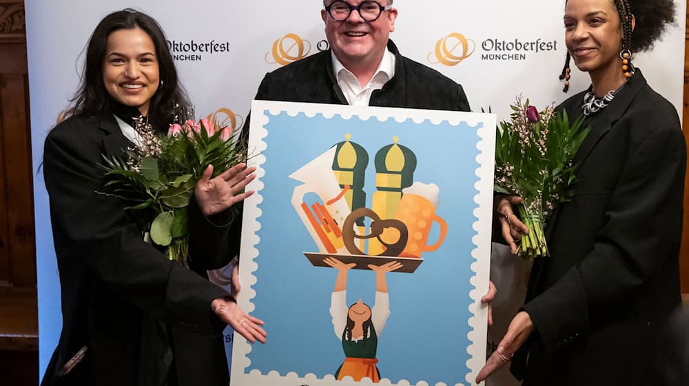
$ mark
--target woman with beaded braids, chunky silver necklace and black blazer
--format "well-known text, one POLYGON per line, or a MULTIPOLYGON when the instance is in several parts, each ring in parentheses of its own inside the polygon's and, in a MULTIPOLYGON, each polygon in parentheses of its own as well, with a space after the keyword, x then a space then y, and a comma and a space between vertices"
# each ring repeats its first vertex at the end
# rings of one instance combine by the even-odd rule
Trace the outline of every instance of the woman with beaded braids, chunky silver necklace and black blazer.
MULTIPOLYGON (((591 130, 574 199, 546 227, 550 256, 534 261, 525 305, 477 382, 512 362, 527 386, 657 384, 654 341, 681 305, 686 145, 677 110, 633 57, 674 18, 672 0, 566 1, 561 79, 567 91, 573 59, 591 85, 557 110, 591 130)), ((500 202, 502 219, 514 201, 500 202)), ((524 228, 511 216, 503 236, 524 228)))

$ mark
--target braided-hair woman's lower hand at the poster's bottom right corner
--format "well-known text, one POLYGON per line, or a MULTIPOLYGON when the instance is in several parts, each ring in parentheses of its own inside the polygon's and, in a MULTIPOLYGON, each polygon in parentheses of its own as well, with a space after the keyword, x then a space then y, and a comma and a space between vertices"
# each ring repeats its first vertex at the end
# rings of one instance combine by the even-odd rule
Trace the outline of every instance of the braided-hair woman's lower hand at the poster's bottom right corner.
POLYGON ((533 332, 531 316, 528 316, 526 311, 515 315, 510 323, 510 327, 507 328, 505 337, 497 345, 497 350, 486 360, 486 365, 478 372, 476 383, 483 382, 496 372, 497 369, 509 363, 517 349, 522 347, 526 338, 531 335, 531 332, 533 332))

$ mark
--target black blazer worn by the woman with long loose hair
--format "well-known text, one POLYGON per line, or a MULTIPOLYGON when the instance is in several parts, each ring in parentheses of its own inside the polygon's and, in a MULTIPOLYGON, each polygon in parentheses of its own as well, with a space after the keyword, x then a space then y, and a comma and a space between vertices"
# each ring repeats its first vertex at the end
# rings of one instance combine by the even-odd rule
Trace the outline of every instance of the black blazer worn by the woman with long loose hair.
MULTIPOLYGON (((131 146, 112 114, 73 116, 45 140, 63 328, 43 385, 160 385, 172 366, 178 385, 227 386, 225 325, 210 304, 229 294, 205 270, 236 252, 230 226, 214 225, 192 199, 192 270, 145 243, 125 204, 96 194, 104 190, 101 154, 124 156, 131 146), (81 363, 61 376, 83 346, 81 363)), ((234 214, 223 213, 223 224, 234 214)))

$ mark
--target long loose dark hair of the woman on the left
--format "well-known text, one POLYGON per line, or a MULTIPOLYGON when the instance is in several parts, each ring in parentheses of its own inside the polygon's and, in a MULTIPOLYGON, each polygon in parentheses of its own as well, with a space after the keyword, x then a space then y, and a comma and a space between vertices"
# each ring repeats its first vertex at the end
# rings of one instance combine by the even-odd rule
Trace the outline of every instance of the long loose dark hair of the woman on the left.
POLYGON ((156 48, 161 85, 151 99, 149 121, 153 125, 167 125, 186 119, 191 108, 187 94, 179 83, 172 54, 167 46, 165 33, 158 22, 143 12, 132 8, 112 12, 101 20, 91 34, 81 72, 79 89, 70 99, 70 108, 64 118, 72 115, 97 116, 112 111, 114 99, 103 84, 103 61, 105 60, 107 37, 117 30, 141 28, 153 41, 156 48))

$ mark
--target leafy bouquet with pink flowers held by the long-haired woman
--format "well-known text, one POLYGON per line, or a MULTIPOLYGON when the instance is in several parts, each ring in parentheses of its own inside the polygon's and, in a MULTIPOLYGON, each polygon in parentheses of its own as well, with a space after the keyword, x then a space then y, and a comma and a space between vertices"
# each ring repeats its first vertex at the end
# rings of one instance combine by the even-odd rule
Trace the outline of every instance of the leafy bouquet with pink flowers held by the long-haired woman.
POLYGON ((127 159, 105 157, 106 187, 103 193, 125 200, 127 209, 153 219, 145 238, 165 247, 170 260, 186 266, 188 250, 187 207, 196 183, 208 165, 217 176, 245 161, 246 152, 231 127, 218 127, 208 119, 170 125, 167 135, 135 120, 141 137, 127 159))

